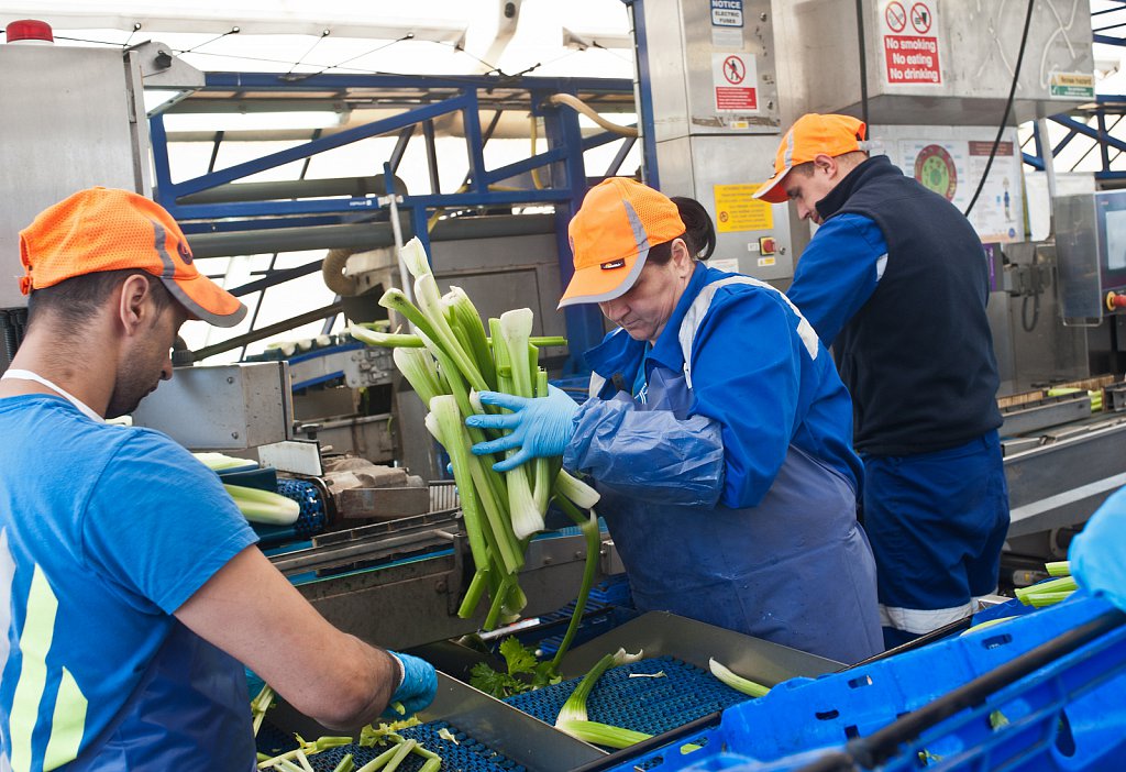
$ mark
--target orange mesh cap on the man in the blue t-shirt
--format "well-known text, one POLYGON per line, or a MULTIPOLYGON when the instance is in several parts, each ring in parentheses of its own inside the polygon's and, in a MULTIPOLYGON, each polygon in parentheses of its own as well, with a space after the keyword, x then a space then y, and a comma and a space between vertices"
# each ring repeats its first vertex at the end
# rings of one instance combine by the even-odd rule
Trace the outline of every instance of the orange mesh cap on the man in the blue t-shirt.
POLYGON ((128 190, 89 188, 44 209, 19 232, 19 259, 25 295, 84 273, 134 268, 160 279, 205 322, 232 327, 247 315, 239 298, 195 267, 172 216, 128 190))

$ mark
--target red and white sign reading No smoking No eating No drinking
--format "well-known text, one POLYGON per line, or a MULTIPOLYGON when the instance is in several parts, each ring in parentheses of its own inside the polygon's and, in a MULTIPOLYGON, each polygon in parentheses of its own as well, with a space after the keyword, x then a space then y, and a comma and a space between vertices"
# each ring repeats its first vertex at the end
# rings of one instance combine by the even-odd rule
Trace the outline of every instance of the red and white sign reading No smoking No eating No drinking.
POLYGON ((888 84, 938 86, 938 0, 887 0, 881 15, 888 84))

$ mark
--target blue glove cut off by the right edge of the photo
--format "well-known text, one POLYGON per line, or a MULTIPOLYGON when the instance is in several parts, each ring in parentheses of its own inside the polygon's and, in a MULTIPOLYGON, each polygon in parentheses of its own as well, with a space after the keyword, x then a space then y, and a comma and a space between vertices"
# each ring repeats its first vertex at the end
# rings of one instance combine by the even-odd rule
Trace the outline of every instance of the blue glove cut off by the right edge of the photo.
POLYGON ((1067 557, 1079 586, 1126 610, 1126 488, 1102 502, 1067 557))

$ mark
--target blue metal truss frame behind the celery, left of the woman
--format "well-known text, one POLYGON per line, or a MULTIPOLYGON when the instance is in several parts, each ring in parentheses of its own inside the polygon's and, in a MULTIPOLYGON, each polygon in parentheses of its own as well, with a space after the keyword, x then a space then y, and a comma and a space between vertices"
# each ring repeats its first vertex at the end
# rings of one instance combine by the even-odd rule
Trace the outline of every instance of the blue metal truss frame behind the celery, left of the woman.
MULTIPOLYGON (((578 209, 582 197, 591 181, 613 176, 635 144, 635 140, 623 137, 609 132, 600 132, 582 136, 578 115, 570 108, 557 107, 546 101, 554 93, 569 93, 584 99, 605 99, 607 104, 634 104, 634 84, 619 79, 597 78, 522 78, 522 77, 405 77, 405 75, 341 75, 314 74, 293 79, 275 73, 223 73, 213 72, 206 75, 206 86, 194 95, 194 98, 214 98, 213 93, 244 95, 238 98, 249 100, 251 97, 263 99, 263 105, 283 97, 304 98, 310 104, 314 100, 327 100, 340 104, 349 99, 376 102, 379 107, 390 105, 401 108, 392 117, 375 120, 360 126, 343 129, 329 136, 319 136, 303 144, 288 147, 262 158, 247 161, 218 171, 191 179, 173 181, 169 160, 169 136, 164 127, 163 115, 157 114, 150 118, 153 144, 153 164, 157 180, 157 200, 167 208, 181 224, 185 232, 213 233, 238 232, 267 228, 297 228, 315 225, 341 225, 359 222, 370 222, 386 217, 386 205, 390 196, 395 196, 394 173, 399 168, 409 142, 421 134, 427 147, 428 170, 432 191, 425 195, 400 195, 395 198, 409 225, 404 228, 404 237, 418 236, 427 251, 430 252, 428 218, 437 210, 474 209, 489 207, 506 207, 512 205, 551 205, 556 217, 556 234, 558 241, 560 271, 566 282, 572 273, 570 248, 566 239, 566 224, 578 209), (373 97, 374 95, 374 97, 373 97), (482 128, 480 115, 490 109, 497 110, 491 125, 482 128), (548 149, 545 152, 509 163, 500 168, 489 169, 484 160, 485 143, 492 136, 501 114, 506 110, 530 110, 542 117, 545 123, 548 149), (450 114, 459 114, 464 125, 465 152, 468 161, 463 190, 441 192, 438 190, 437 158, 435 152, 434 120, 450 114), (421 129, 421 131, 420 131, 421 129), (236 182, 259 172, 276 169, 295 161, 307 161, 323 153, 350 143, 369 137, 386 136, 397 133, 399 140, 390 158, 377 165, 384 171, 384 185, 387 196, 366 194, 361 196, 328 196, 310 199, 292 200, 230 200, 225 203, 193 203, 193 196, 213 191, 224 185, 236 182), (583 161, 583 153, 614 142, 622 145, 615 159, 601 174, 592 179, 583 161), (530 189, 490 189, 512 178, 534 170, 549 170, 549 182, 542 188, 530 189)), ((175 110, 184 109, 186 102, 180 102, 175 110)), ((650 122, 651 125, 651 122, 650 122)), ((645 133, 646 136, 651 132, 645 133)), ((223 142, 221 132, 214 137, 215 150, 223 142)), ((653 169, 649 156, 649 143, 643 144, 644 165, 653 169)), ((215 153, 213 153, 213 163, 215 153)), ((655 173, 653 171, 652 173, 655 173)), ((653 179, 651 173, 651 179, 653 179)), ((372 176, 377 172, 373 170, 372 176)), ((244 198, 243 196, 239 197, 244 198)), ((254 281, 235 287, 232 291, 239 296, 250 295, 261 290, 262 295, 270 287, 297 278, 315 270, 314 264, 300 269, 276 270, 271 267, 261 272, 254 281)), ((259 296, 257 303, 261 303, 259 296)), ((602 321, 597 308, 568 308, 566 330, 570 341, 571 359, 564 368, 565 374, 586 371, 581 353, 597 344, 602 336, 602 321)), ((300 316, 295 317, 298 318, 300 316)), ((325 331, 330 331, 333 316, 325 317, 325 331)), ((306 320, 307 321, 307 320, 306 320)), ((278 325, 271 325, 277 329, 278 325)), ((215 348, 215 347, 211 347, 215 348)))

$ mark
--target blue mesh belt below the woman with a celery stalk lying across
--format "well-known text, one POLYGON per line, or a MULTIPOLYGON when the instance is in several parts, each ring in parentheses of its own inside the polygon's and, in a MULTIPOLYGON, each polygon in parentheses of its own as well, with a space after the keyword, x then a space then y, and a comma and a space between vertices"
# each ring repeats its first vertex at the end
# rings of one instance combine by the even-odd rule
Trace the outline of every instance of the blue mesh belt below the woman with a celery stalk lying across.
MULTIPOLYGON (((555 724, 566 698, 582 679, 510 697, 513 708, 555 724)), ((748 698, 695 665, 673 657, 642 659, 611 667, 587 698, 587 718, 610 726, 660 735, 748 698), (629 677, 632 673, 659 673, 662 677, 629 677)))

